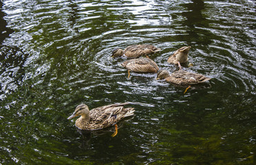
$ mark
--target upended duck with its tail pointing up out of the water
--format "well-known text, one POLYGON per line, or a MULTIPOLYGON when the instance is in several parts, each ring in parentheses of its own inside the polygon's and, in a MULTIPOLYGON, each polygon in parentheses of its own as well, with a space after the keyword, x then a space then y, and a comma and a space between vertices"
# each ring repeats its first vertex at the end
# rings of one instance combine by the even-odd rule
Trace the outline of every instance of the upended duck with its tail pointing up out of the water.
POLYGON ((188 61, 189 50, 191 46, 181 47, 176 50, 173 55, 169 56, 167 62, 172 64, 178 64, 180 69, 182 69, 180 63, 186 63, 188 61))

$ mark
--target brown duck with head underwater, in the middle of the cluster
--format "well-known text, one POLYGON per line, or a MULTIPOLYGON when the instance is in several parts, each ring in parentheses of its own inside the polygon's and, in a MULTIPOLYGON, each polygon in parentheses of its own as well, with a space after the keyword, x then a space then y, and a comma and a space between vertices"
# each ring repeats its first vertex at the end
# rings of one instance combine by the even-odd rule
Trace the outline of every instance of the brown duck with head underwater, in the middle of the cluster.
POLYGON ((128 70, 128 78, 130 76, 130 71, 157 73, 159 70, 158 65, 149 58, 135 58, 125 61, 121 65, 128 70))

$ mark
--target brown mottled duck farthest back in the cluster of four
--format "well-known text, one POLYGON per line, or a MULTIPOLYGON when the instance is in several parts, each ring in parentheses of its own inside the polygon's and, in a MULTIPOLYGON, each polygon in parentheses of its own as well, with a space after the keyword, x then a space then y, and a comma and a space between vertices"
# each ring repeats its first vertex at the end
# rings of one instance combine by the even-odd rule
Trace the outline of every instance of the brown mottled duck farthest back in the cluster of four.
POLYGON ((127 58, 138 58, 140 56, 147 56, 148 54, 159 52, 161 49, 153 45, 130 45, 125 50, 115 48, 112 51, 112 57, 126 56, 127 58))

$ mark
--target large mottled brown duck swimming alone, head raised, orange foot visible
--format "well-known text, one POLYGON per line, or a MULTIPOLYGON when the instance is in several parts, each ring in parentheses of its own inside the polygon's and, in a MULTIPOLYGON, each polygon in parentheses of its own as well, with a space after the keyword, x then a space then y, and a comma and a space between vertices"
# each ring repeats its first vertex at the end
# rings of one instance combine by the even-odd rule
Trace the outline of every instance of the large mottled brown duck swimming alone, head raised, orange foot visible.
POLYGON ((74 113, 67 119, 70 120, 81 115, 81 117, 76 120, 76 126, 82 130, 104 129, 107 126, 115 125, 116 131, 112 135, 112 137, 114 137, 118 129, 116 123, 122 120, 122 118, 134 115, 134 108, 124 108, 126 104, 129 103, 109 104, 92 109, 91 111, 89 111, 86 104, 79 104, 74 110, 74 113))

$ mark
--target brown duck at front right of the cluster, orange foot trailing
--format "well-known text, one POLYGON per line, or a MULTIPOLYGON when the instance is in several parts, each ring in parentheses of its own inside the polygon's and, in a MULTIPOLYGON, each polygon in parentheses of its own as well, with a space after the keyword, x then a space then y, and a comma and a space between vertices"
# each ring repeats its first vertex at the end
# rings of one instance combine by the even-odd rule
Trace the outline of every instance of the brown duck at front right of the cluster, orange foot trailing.
POLYGON ((206 77, 202 74, 195 74, 192 72, 186 72, 184 70, 178 70, 170 74, 167 70, 160 70, 157 74, 157 80, 165 79, 168 83, 173 83, 175 85, 189 85, 184 91, 186 91, 191 87, 191 85, 197 85, 200 83, 204 83, 207 80, 211 80, 211 78, 206 77))

